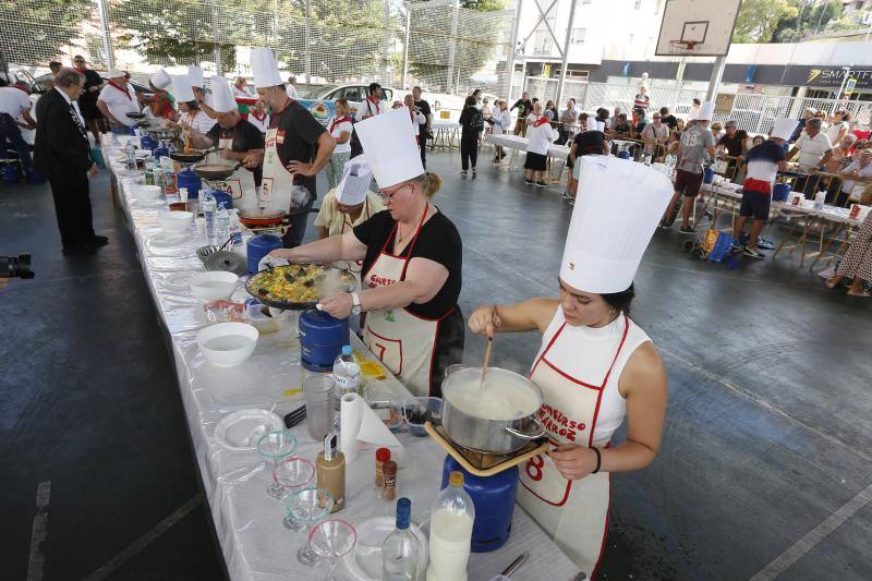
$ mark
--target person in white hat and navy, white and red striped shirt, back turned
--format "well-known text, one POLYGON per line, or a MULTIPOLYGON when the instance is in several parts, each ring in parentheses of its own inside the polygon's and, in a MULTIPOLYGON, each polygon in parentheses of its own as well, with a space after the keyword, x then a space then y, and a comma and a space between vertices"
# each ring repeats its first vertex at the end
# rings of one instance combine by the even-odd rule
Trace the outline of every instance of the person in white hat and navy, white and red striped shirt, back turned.
POLYGON ((746 158, 746 177, 742 189, 742 202, 739 207, 739 217, 732 229, 736 240, 742 239, 744 222, 753 217, 751 233, 748 237, 748 244, 744 245, 744 255, 751 258, 762 259, 766 256, 756 247, 758 237, 760 237, 763 226, 770 219, 770 207, 772 206, 772 186, 778 171, 787 169, 787 156, 785 156, 784 144, 794 134, 797 122, 792 119, 776 119, 775 128, 772 130, 770 138, 752 147, 746 158))

